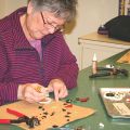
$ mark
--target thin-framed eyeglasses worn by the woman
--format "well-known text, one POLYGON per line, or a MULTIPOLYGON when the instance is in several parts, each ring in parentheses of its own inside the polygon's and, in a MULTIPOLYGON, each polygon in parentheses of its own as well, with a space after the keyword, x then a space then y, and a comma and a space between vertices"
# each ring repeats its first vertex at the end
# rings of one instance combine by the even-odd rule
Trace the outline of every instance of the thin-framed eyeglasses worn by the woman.
POLYGON ((41 14, 42 22, 43 22, 44 25, 51 26, 52 28, 54 28, 54 31, 56 31, 56 30, 63 31, 64 26, 54 26, 52 23, 49 23, 48 21, 47 22, 44 21, 44 16, 43 16, 42 12, 40 12, 40 14, 41 14))

